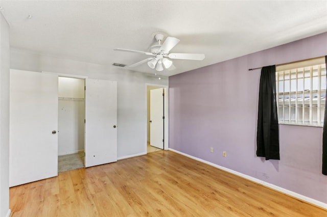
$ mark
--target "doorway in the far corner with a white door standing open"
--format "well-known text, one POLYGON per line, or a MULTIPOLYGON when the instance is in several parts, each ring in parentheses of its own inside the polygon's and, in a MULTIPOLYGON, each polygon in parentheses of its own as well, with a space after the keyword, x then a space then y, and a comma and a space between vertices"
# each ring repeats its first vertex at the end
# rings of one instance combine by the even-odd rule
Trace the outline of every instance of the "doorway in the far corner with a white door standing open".
POLYGON ((167 87, 147 85, 147 153, 167 149, 167 96, 167 87))

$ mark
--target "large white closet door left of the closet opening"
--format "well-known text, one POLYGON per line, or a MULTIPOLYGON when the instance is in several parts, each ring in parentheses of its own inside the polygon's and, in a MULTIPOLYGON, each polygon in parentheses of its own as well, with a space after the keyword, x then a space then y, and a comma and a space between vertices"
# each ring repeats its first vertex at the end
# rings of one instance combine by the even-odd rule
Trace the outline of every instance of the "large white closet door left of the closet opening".
POLYGON ((9 185, 58 174, 58 75, 10 70, 9 185))

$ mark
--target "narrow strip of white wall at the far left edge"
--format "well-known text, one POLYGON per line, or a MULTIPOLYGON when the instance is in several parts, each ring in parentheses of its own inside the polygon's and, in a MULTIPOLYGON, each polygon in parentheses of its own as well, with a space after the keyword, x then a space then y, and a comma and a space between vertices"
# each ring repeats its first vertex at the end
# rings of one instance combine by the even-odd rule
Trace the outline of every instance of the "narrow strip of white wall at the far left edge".
POLYGON ((0 216, 9 216, 9 25, 0 13, 0 216))

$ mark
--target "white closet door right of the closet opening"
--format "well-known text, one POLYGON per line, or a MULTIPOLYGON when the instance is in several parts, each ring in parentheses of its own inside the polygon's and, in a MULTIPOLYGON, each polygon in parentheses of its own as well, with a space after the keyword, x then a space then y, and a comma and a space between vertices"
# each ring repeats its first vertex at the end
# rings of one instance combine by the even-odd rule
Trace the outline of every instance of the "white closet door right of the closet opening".
POLYGON ((117 82, 85 80, 85 167, 117 161, 117 82))

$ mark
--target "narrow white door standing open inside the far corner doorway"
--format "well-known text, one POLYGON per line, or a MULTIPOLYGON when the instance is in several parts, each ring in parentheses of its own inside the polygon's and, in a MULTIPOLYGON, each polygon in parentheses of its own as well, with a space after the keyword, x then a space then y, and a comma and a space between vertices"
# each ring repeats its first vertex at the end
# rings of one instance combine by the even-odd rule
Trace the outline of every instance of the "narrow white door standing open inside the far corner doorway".
POLYGON ((164 88, 150 90, 150 145, 164 149, 164 88))

